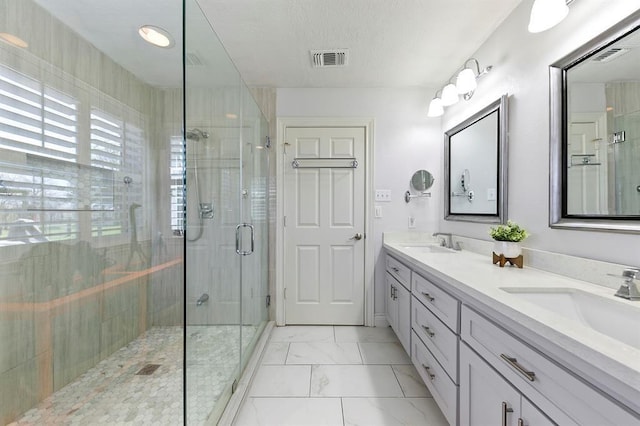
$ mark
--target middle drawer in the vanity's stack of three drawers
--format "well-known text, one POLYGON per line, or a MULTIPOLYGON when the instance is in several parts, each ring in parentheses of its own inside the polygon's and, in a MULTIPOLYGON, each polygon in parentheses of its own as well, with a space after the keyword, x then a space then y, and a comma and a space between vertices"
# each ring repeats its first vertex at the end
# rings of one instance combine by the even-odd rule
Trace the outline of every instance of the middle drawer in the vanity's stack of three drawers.
POLYGON ((422 303, 411 304, 413 331, 445 369, 454 383, 458 383, 458 337, 422 303))

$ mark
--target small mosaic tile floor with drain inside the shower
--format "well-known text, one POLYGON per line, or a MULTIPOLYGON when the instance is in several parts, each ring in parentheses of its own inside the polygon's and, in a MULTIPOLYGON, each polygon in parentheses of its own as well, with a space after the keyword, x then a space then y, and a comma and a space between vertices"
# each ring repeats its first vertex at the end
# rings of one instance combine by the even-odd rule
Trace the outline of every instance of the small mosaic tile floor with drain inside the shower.
MULTIPOLYGON (((256 327, 243 327, 243 345, 256 327)), ((187 327, 187 423, 201 425, 238 364, 237 326, 187 327)), ((183 329, 154 327, 11 425, 183 424, 183 329), (151 375, 136 373, 159 364, 151 375)))

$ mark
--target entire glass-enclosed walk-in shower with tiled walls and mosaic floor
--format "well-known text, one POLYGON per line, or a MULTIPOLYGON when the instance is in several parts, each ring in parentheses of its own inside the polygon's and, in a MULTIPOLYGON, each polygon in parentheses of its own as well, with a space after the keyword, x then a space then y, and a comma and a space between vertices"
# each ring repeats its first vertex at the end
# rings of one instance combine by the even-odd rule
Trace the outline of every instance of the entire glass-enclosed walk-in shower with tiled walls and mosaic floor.
POLYGON ((196 0, 134 3, 0 0, 0 426, 215 424, 265 327, 266 120, 196 0))

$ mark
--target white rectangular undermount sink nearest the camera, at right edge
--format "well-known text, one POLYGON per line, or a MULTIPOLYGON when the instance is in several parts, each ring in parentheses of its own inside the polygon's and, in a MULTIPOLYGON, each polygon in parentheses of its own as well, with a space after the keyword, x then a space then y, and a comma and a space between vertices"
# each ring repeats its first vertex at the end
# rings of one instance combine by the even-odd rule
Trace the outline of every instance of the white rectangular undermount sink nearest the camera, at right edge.
POLYGON ((504 287, 501 290, 640 349, 640 305, 631 306, 574 288, 504 287))

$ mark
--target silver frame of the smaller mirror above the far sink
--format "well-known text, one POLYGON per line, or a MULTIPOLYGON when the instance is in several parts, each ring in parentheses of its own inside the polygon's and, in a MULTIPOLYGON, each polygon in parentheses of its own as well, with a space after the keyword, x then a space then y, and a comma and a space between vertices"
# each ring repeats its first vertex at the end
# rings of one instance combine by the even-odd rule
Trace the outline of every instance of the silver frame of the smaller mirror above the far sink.
POLYGON ((444 133, 444 219, 464 222, 478 223, 506 223, 507 222, 507 172, 508 172, 508 129, 509 129, 509 95, 504 94, 499 99, 493 101, 471 117, 467 118, 457 126, 444 133), (487 115, 498 111, 498 141, 497 153, 498 170, 496 170, 498 190, 497 190, 497 214, 473 214, 473 213, 451 213, 451 137, 461 130, 466 129, 487 115))

